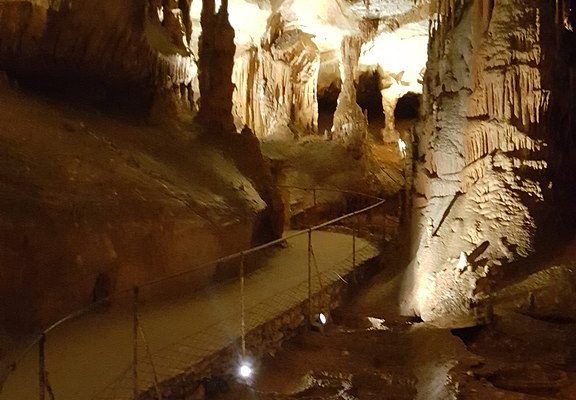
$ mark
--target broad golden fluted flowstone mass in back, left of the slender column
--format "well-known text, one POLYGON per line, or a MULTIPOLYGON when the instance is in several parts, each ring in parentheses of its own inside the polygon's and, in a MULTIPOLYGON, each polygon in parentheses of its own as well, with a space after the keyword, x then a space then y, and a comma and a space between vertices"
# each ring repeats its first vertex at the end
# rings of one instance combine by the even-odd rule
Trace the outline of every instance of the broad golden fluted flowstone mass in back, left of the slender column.
POLYGON ((260 138, 293 139, 318 128, 317 46, 281 13, 268 19, 259 47, 235 68, 235 115, 260 138))

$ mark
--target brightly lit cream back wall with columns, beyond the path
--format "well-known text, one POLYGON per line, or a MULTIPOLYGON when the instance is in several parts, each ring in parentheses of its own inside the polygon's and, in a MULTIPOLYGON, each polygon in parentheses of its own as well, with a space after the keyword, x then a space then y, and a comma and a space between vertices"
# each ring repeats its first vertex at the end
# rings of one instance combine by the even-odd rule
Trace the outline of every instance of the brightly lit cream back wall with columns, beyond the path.
MULTIPOLYGON (((377 71, 388 121, 384 137, 395 142, 396 101, 407 92, 422 91, 428 3, 294 0, 276 2, 272 7, 267 2, 256 6, 232 0, 231 14, 237 16, 232 15, 231 22, 239 32, 233 73, 236 127, 247 125, 260 138, 316 133, 318 93, 334 88, 341 91, 344 69, 349 68, 345 64, 353 62, 354 73, 340 108, 355 108, 355 100, 348 100, 359 72, 377 71), (250 15, 250 19, 238 15, 250 15), (362 38, 353 61, 349 55, 342 56, 345 37, 362 38)), ((353 119, 360 120, 359 115, 353 119)), ((335 129, 339 132, 343 125, 350 125, 345 121, 338 124, 335 129)), ((347 135, 337 133, 335 137, 347 135)))

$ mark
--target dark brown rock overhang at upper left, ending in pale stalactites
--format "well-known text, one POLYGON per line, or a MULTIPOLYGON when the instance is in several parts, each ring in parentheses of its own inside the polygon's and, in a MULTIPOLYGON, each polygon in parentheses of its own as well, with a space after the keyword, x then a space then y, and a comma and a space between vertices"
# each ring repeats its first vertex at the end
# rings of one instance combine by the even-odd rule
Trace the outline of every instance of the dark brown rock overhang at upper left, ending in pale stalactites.
POLYGON ((188 0, 0 1, 0 66, 24 84, 111 108, 147 110, 158 100, 193 110, 189 6, 188 0))

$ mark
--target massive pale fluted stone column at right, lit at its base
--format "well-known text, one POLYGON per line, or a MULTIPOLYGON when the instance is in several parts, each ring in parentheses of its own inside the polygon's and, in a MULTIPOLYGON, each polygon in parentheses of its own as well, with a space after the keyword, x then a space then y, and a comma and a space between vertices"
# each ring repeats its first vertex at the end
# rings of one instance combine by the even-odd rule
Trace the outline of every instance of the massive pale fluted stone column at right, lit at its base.
POLYGON ((553 180, 571 157, 551 160, 571 128, 554 122, 570 106, 552 105, 570 100, 553 71, 570 68, 557 56, 555 2, 435 6, 403 306, 469 326, 489 317, 490 283, 534 254, 558 214, 552 189, 566 185, 553 180))

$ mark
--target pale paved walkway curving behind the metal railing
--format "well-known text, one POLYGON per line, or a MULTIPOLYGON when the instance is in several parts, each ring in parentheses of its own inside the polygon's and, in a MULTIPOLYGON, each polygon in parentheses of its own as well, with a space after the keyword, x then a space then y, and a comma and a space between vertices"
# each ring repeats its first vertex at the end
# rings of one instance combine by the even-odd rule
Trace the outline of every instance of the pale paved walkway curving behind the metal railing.
MULTIPOLYGON (((322 285, 352 269, 351 236, 317 231, 312 242, 322 285)), ((378 254, 375 246, 362 239, 357 239, 356 249, 357 263, 378 254)), ((290 239, 285 248, 268 250, 265 267, 246 279, 247 331, 307 298, 307 257, 306 235, 290 239)), ((318 291, 313 272, 313 289, 318 291)), ((240 336, 238 282, 147 303, 140 307, 140 320, 160 381, 182 373, 240 336)), ((46 366, 55 400, 131 400, 131 335, 129 301, 51 332, 46 366)), ((144 389, 153 383, 152 363, 144 348, 139 354, 139 382, 144 389)), ((0 400, 37 400, 37 371, 37 352, 33 351, 8 378, 0 400)))

